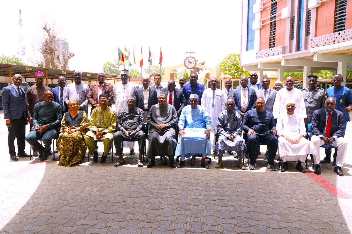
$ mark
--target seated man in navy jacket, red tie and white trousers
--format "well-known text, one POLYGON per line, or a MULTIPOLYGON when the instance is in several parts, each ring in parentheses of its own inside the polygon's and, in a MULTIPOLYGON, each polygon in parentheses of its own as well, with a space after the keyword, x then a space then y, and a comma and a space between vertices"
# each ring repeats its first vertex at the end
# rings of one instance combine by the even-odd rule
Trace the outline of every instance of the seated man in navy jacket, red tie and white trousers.
POLYGON ((344 114, 335 109, 336 100, 327 98, 325 108, 313 112, 312 117, 312 139, 310 140, 310 153, 313 154, 315 174, 321 173, 320 146, 323 144, 338 147, 334 172, 343 176, 341 167, 347 153, 347 140, 341 135, 344 132, 344 114))

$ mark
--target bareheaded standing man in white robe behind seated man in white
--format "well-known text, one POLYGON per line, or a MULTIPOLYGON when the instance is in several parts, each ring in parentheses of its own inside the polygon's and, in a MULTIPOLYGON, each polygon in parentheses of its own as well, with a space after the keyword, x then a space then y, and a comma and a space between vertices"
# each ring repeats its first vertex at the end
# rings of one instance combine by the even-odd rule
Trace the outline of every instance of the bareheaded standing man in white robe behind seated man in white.
POLYGON ((294 88, 295 80, 289 76, 285 80, 285 88, 280 89, 276 93, 276 98, 274 102, 274 108, 272 114, 275 119, 278 119, 280 115, 285 114, 286 103, 288 100, 293 100, 296 104, 296 114, 301 115, 303 118, 307 118, 306 105, 304 104, 304 99, 302 91, 300 89, 294 88))

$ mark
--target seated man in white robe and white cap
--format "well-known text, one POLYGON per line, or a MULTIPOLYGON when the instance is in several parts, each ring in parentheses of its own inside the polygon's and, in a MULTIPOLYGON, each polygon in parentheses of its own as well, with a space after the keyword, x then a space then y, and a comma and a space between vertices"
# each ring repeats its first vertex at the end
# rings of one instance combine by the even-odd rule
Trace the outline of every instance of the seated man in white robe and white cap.
POLYGON ((302 162, 306 161, 310 153, 310 142, 304 138, 306 127, 302 116, 296 114, 295 101, 288 100, 286 104, 287 114, 281 114, 277 118, 276 130, 279 136, 279 153, 284 162, 281 172, 288 170, 287 161, 297 161, 296 169, 305 173, 302 162))

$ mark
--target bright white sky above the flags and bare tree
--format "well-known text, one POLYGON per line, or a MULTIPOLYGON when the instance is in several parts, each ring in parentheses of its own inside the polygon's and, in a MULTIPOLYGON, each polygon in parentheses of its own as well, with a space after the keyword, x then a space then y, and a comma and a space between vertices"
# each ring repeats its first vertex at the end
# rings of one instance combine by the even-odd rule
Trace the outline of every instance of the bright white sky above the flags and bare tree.
MULTIPOLYGON (((54 24, 59 37, 68 40, 70 70, 100 72, 103 63, 118 58, 118 47, 133 47, 135 69, 139 69, 141 47, 144 66, 149 47, 153 65, 182 64, 189 55, 205 66, 215 67, 230 53, 240 52, 241 1, 5 1, 1 3, 0 56, 18 56, 19 35, 23 36, 29 65, 40 59, 38 42, 42 26, 54 24), (58 4, 59 3, 59 4, 58 4), (6 10, 5 10, 6 9, 6 10), (23 26, 18 24, 19 9, 23 26), (8 35, 6 33, 9 33, 8 35)), ((133 69, 133 66, 130 68, 133 69)))

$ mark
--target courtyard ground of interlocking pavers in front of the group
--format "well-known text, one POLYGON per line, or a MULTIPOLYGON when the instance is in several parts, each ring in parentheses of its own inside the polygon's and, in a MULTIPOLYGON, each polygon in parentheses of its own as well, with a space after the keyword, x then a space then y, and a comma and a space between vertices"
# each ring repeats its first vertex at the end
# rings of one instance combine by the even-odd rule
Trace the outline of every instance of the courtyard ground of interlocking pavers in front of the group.
MULTIPOLYGON (((159 160, 155 167, 138 168, 137 155, 128 155, 120 167, 110 155, 106 163, 85 160, 68 168, 57 166, 52 156, 44 162, 11 161, 2 111, 0 118, 0 233, 352 231, 352 144, 343 177, 331 164, 314 174, 310 160, 305 174, 294 162, 285 173, 270 172, 263 146, 254 171, 235 168, 237 159, 228 155, 222 169, 215 169, 213 155, 210 169, 201 168, 199 159, 194 166, 186 160, 184 168, 159 160)), ((348 123, 348 140, 351 131, 348 123)))

